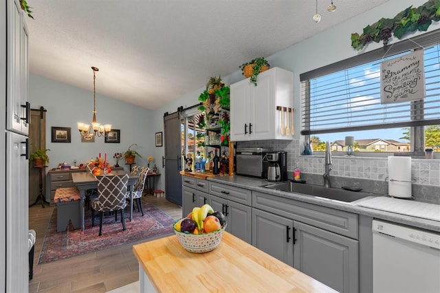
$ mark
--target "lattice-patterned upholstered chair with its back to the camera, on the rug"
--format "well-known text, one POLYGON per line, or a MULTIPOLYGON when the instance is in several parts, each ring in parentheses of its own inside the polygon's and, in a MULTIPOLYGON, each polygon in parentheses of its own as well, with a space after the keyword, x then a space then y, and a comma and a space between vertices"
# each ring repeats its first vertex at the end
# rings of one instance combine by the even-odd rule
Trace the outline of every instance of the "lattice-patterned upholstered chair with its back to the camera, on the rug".
POLYGON ((118 210, 121 211, 122 230, 125 230, 124 208, 126 207, 126 191, 129 174, 100 175, 98 180, 98 198, 91 199, 91 226, 95 226, 95 211, 100 212, 99 236, 102 235, 102 217, 104 213, 115 212, 115 221, 118 219, 118 210))

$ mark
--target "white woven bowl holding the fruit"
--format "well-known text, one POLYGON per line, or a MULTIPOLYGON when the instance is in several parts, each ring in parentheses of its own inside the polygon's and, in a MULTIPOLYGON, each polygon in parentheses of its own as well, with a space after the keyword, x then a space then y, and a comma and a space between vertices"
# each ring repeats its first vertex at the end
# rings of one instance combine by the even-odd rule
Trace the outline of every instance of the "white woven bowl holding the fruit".
POLYGON ((219 246, 221 241, 221 236, 223 235, 223 231, 225 230, 228 223, 225 223, 220 230, 203 233, 203 234, 191 234, 188 232, 179 232, 176 230, 175 225, 181 219, 177 220, 173 224, 174 232, 177 235, 177 239, 183 248, 188 250, 189 252, 195 253, 203 253, 214 250, 219 246))

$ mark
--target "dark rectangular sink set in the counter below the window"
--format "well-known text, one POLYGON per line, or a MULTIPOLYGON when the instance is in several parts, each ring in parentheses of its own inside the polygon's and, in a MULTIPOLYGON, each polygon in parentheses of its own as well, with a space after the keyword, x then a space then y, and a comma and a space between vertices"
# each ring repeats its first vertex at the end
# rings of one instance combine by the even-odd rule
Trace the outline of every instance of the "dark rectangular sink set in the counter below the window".
POLYGON ((289 193, 301 193, 304 195, 312 195, 314 197, 324 197, 327 199, 338 200, 340 202, 355 202, 358 199, 369 197, 371 195, 371 193, 347 191, 342 188, 328 188, 320 185, 295 182, 280 182, 265 185, 264 187, 289 193))

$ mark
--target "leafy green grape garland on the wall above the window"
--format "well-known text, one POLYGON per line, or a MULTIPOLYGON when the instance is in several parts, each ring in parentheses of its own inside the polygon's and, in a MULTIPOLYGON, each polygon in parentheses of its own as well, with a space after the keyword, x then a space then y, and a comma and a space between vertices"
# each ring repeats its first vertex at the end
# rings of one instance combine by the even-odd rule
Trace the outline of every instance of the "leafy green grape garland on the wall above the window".
POLYGON ((372 25, 367 25, 361 35, 351 34, 351 47, 359 51, 372 41, 383 41, 384 45, 388 45, 391 35, 401 39, 408 32, 426 32, 432 21, 440 21, 440 0, 429 0, 418 8, 410 6, 393 19, 382 18, 372 25))

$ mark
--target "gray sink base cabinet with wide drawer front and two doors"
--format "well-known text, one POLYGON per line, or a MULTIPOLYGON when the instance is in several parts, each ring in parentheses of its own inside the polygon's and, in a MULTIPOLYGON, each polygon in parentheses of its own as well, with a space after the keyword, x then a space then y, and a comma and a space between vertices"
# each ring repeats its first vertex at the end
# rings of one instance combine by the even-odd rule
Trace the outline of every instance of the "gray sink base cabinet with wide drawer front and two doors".
POLYGON ((359 292, 358 215, 252 193, 252 245, 339 292, 359 292))

